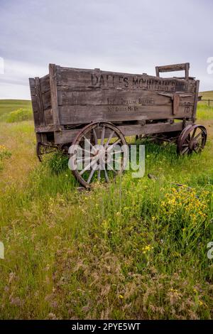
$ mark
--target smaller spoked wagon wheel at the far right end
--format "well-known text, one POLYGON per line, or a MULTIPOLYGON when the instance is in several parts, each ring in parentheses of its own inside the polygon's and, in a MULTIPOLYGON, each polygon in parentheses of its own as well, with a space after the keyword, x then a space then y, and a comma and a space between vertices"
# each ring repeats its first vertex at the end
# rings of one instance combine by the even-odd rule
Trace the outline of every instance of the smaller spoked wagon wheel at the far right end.
POLYGON ((202 125, 188 125, 178 138, 178 153, 180 155, 199 153, 207 141, 207 129, 202 125))

